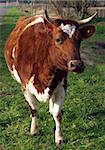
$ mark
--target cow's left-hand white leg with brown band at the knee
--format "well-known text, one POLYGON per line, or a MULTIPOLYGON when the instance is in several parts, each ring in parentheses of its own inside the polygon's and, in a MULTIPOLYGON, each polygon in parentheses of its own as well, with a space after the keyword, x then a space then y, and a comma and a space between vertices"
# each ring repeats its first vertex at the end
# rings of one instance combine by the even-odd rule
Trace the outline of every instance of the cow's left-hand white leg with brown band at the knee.
POLYGON ((37 99, 35 98, 34 95, 30 93, 29 90, 24 91, 24 96, 26 98, 26 101, 28 102, 31 116, 32 116, 32 121, 31 121, 31 128, 30 128, 30 134, 35 135, 38 132, 38 124, 37 124, 37 99))

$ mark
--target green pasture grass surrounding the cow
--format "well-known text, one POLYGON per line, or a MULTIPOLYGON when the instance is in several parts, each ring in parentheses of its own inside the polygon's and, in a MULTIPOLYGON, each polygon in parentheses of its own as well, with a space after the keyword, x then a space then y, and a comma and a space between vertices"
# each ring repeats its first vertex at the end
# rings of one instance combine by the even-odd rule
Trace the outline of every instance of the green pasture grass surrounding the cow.
MULTIPOLYGON (((5 63, 5 41, 22 13, 10 9, 4 17, 0 34, 0 149, 2 150, 104 150, 105 149, 105 56, 91 53, 94 66, 84 73, 70 74, 62 128, 66 143, 56 147, 54 121, 47 104, 39 104, 38 136, 29 135, 30 117, 20 85, 15 82, 5 63), (9 17, 8 17, 9 16, 9 17)), ((94 42, 104 40, 105 27, 95 22, 96 34, 82 44, 90 49, 94 42), (99 37, 99 38, 98 38, 99 37), (92 43, 92 44, 89 44, 92 43)))

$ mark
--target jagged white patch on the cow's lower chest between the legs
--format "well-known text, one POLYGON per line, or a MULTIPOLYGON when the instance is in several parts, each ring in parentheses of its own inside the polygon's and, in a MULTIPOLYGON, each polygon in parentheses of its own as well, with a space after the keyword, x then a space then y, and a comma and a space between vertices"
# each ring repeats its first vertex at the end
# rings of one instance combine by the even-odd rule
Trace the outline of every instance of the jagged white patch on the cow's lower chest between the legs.
POLYGON ((49 95, 50 89, 46 88, 43 91, 43 93, 40 93, 37 91, 37 89, 35 88, 33 83, 34 83, 34 75, 31 77, 31 79, 29 80, 29 83, 27 84, 27 87, 28 87, 30 93, 35 95, 35 97, 37 98, 38 101, 47 102, 50 98, 50 95, 49 95))

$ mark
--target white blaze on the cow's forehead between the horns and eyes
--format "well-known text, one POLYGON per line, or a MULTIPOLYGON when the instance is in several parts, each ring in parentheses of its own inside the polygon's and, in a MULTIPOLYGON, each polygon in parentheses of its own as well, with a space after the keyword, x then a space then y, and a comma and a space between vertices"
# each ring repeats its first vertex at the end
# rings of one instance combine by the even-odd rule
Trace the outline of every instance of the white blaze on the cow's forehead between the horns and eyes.
POLYGON ((69 38, 72 38, 72 35, 76 31, 76 26, 75 25, 70 25, 70 24, 64 25, 62 23, 60 27, 63 30, 63 32, 65 32, 65 33, 67 33, 69 35, 69 38))

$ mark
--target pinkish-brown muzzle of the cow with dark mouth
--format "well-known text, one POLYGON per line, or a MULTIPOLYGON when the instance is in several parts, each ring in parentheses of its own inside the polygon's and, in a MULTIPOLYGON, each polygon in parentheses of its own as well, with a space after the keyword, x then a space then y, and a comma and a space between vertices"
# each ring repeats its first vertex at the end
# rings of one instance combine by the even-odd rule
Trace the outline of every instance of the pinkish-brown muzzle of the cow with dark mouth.
POLYGON ((81 73, 84 71, 84 63, 81 60, 71 60, 68 62, 68 70, 81 73))

